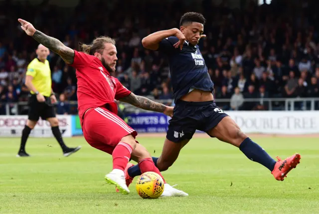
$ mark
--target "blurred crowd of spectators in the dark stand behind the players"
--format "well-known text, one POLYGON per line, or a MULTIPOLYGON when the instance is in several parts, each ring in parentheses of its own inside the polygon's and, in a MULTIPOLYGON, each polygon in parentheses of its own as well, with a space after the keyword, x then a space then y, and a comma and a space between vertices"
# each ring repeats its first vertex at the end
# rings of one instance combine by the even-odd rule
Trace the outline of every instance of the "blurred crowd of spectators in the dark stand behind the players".
MULTIPOLYGON (((19 28, 17 18, 77 49, 100 35, 116 39, 117 71, 121 83, 137 95, 153 100, 172 99, 167 60, 145 50, 141 40, 162 29, 178 27, 187 11, 203 13, 207 37, 199 47, 214 82, 217 102, 225 110, 263 110, 263 98, 319 97, 318 0, 272 0, 258 4, 243 0, 232 8, 227 0, 92 1, 58 7, 43 1, 0 1, 0 114, 5 103, 26 101, 26 66, 36 57, 36 41, 19 28), (215 3, 214 3, 215 2, 215 3), (261 98, 259 102, 245 102, 261 98)), ((57 113, 76 113, 73 68, 51 52, 48 57, 52 88, 58 94, 57 113)), ((280 106, 280 105, 279 105, 280 106)), ((299 106, 300 107, 300 106, 299 106)), ((316 106, 318 108, 318 106, 316 106)), ((19 113, 22 113, 22 110, 19 113)))

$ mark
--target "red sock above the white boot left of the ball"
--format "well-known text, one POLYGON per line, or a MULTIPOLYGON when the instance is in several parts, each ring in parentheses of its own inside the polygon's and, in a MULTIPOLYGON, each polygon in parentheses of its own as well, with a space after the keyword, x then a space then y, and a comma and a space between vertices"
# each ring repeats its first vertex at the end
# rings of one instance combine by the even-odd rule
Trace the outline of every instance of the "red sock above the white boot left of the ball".
POLYGON ((120 142, 113 150, 113 169, 125 170, 126 165, 129 163, 133 148, 131 145, 120 142))

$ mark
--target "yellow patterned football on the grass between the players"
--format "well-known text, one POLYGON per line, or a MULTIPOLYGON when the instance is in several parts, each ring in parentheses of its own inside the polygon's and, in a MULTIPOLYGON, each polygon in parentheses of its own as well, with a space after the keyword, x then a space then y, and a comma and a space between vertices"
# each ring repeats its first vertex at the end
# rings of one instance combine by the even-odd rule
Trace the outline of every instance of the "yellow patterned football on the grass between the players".
POLYGON ((164 191, 164 181, 155 172, 145 172, 136 182, 136 191, 143 199, 157 199, 164 191))

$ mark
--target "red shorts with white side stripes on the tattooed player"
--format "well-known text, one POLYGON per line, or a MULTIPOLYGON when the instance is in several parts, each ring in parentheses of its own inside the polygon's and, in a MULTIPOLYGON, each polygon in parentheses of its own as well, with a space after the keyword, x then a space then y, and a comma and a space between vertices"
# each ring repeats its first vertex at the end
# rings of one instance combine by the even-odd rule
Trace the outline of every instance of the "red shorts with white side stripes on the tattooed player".
POLYGON ((138 135, 123 119, 104 107, 86 111, 82 129, 85 140, 92 147, 109 154, 123 137, 132 134, 135 138, 138 135))

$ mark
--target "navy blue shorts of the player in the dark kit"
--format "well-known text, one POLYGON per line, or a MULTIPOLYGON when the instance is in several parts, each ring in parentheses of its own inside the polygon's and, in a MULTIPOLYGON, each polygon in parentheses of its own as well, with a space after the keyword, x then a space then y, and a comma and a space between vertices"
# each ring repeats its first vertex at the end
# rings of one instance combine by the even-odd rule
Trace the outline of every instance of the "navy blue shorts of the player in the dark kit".
POLYGON ((169 120, 166 138, 173 142, 191 139, 196 129, 208 132, 228 116, 213 101, 186 102, 178 100, 169 120))

